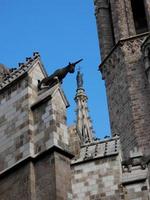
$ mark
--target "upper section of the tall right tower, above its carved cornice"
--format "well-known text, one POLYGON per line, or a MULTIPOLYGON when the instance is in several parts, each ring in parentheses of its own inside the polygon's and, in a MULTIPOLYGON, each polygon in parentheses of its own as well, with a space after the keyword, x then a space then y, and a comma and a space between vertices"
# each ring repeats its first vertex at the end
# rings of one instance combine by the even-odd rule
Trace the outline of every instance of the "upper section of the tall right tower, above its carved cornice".
POLYGON ((149 0, 94 0, 102 59, 120 39, 148 32, 149 0))

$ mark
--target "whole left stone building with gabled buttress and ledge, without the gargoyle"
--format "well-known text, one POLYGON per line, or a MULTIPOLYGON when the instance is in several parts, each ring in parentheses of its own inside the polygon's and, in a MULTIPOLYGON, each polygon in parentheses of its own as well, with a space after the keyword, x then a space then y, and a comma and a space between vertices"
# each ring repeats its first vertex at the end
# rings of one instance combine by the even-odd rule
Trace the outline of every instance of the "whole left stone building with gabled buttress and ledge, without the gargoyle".
POLYGON ((0 199, 69 199, 68 101, 60 85, 38 90, 47 77, 38 53, 0 70, 0 199))

